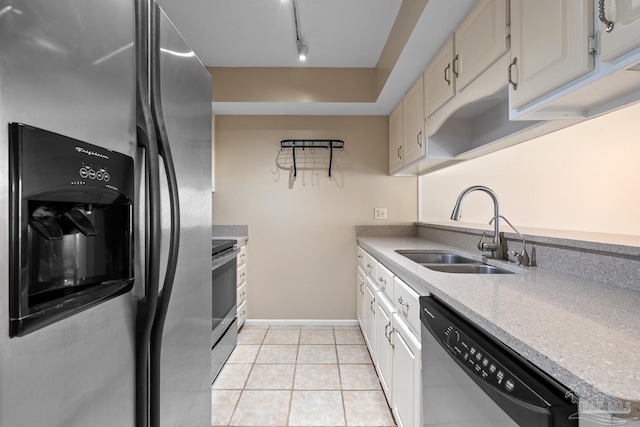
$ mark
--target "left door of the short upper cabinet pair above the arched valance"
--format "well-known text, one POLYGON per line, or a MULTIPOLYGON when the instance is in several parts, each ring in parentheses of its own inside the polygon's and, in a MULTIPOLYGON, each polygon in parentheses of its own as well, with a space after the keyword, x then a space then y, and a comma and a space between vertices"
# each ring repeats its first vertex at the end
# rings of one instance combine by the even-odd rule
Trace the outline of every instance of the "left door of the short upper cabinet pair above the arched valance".
POLYGON ((456 93, 453 71, 453 36, 449 37, 424 71, 424 115, 429 117, 456 93))

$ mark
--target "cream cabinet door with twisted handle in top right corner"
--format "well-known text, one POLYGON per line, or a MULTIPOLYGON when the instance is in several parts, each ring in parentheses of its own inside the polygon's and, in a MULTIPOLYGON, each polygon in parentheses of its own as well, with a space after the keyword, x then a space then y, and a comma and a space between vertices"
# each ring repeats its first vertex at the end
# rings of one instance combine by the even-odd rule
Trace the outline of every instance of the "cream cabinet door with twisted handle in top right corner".
POLYGON ((604 6, 604 16, 600 17, 602 61, 611 61, 640 46, 640 1, 598 0, 598 4, 604 6))

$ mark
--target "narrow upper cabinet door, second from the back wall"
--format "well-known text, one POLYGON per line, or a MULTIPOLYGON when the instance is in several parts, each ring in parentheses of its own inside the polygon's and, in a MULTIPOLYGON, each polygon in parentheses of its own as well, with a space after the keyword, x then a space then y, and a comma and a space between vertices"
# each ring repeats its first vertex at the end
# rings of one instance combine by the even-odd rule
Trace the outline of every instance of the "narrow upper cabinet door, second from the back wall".
POLYGON ((404 112, 404 164, 424 157, 424 88, 422 76, 413 84, 402 100, 404 112))

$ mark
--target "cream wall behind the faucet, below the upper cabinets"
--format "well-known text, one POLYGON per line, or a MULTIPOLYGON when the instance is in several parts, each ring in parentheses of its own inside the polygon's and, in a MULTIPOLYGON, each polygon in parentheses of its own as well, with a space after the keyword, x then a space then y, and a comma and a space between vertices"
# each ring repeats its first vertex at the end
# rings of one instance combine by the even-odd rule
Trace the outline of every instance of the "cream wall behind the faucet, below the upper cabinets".
MULTIPOLYGON (((456 198, 475 184, 516 227, 640 236, 640 104, 421 177, 421 220, 455 225, 456 198)), ((463 220, 486 223, 492 206, 470 194, 463 220)))

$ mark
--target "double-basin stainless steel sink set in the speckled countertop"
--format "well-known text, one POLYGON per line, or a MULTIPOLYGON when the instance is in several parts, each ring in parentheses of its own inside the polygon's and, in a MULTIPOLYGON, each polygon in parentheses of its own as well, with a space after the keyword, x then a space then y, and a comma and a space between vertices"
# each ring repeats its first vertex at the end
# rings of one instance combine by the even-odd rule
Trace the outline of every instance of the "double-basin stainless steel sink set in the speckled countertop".
POLYGON ((443 273, 513 274, 511 271, 450 252, 417 252, 415 250, 397 250, 396 252, 425 268, 443 273))

